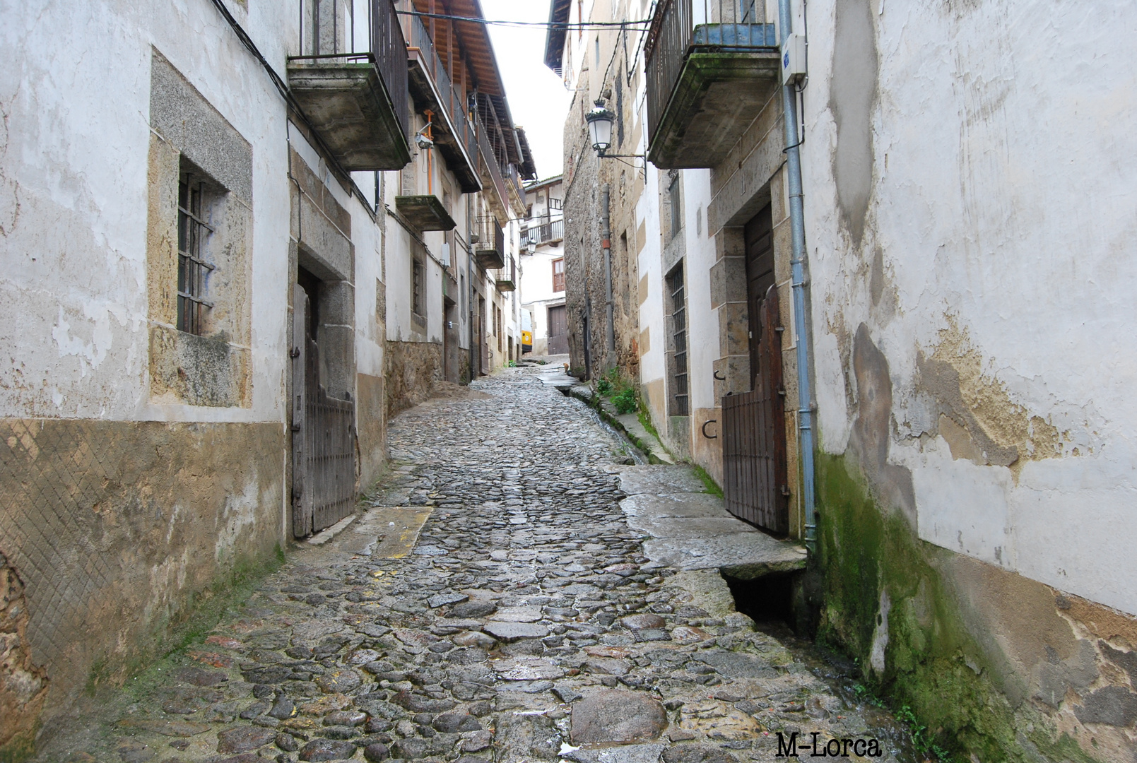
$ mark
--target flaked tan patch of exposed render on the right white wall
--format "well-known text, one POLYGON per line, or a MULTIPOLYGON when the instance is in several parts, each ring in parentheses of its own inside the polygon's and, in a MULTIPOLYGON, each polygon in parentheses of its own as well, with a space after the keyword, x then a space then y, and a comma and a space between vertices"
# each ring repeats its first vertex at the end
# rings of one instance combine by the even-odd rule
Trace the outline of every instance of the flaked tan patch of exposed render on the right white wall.
POLYGON ((985 371, 982 354, 954 318, 939 331, 931 356, 919 354, 916 368, 918 388, 939 406, 938 433, 954 458, 1007 466, 1018 479, 1024 462, 1065 455, 1070 433, 1015 403, 1007 385, 985 371))

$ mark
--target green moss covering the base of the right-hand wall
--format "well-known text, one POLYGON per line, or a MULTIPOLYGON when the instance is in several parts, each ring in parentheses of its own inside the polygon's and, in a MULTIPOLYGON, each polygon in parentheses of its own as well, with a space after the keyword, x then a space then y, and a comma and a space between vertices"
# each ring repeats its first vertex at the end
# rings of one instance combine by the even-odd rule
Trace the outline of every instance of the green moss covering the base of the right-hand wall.
POLYGON ((819 564, 825 604, 819 639, 869 664, 881 590, 891 602, 883 674, 865 675, 897 712, 907 707, 927 750, 984 763, 1090 763, 1070 737, 1049 730, 1029 703, 1015 708, 990 681, 985 652, 940 577, 951 551, 919 540, 898 512, 881 509, 844 456, 819 454, 819 564), (978 669, 978 670, 977 670, 978 669), (1024 729, 1032 729, 1029 733, 1024 729))

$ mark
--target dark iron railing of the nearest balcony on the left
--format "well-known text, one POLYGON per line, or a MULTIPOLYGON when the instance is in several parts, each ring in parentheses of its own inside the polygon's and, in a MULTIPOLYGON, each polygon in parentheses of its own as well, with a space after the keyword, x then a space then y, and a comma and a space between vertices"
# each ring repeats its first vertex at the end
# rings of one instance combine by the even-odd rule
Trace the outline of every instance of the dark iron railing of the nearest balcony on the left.
POLYGON ((300 55, 291 60, 358 60, 374 64, 407 136, 407 43, 393 0, 300 0, 300 55))

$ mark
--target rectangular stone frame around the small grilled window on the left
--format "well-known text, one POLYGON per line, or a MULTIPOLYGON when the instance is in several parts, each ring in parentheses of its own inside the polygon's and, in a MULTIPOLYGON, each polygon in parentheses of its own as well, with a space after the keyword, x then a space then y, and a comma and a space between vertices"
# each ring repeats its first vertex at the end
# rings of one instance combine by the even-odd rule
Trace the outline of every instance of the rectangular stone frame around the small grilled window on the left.
MULTIPOLYGON (((147 171, 149 398, 156 405, 252 405, 252 147, 190 81, 151 49, 147 171), (210 232, 200 259, 208 302, 197 325, 179 321, 180 185, 208 188, 210 232), (190 327, 193 331, 183 331, 190 327)), ((207 204, 206 204, 207 202, 207 204)))

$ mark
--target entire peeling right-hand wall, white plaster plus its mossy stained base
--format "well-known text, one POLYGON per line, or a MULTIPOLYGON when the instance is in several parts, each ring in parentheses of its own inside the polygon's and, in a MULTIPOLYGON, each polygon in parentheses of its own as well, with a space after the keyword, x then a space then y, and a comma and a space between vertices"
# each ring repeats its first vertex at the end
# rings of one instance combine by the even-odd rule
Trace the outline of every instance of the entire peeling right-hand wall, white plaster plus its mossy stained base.
POLYGON ((891 586, 886 680, 919 698, 935 680, 921 661, 957 649, 1005 718, 1045 720, 1059 747, 1076 740, 1060 754, 976 715, 956 728, 973 749, 999 738, 1001 755, 1129 760, 1137 7, 841 0, 808 13, 829 627, 875 664, 872 628, 854 623, 875 628, 891 586), (879 512, 878 539, 853 524, 869 515, 845 472, 879 512), (901 559, 911 586, 890 572, 901 559), (921 630, 948 621, 957 631, 921 630), (1102 636, 1102 622, 1120 624, 1102 636))

